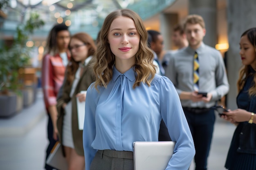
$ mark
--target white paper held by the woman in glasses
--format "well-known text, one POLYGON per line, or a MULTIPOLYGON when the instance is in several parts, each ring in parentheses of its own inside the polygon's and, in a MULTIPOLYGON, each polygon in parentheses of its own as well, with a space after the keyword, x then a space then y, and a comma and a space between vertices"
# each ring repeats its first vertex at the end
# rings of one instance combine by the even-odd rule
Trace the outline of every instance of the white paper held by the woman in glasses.
MULTIPOLYGON (((86 91, 81 91, 80 93, 86 94, 86 91)), ((78 97, 76 97, 76 104, 77 104, 78 127, 79 127, 79 130, 83 130, 83 122, 84 122, 84 115, 85 115, 85 101, 79 102, 78 97)))

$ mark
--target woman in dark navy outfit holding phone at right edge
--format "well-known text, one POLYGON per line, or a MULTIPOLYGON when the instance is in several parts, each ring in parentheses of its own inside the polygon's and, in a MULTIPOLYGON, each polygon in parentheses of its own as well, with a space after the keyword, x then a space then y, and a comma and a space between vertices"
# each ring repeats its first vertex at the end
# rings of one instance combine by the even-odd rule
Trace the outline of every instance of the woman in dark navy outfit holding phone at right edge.
POLYGON ((225 168, 256 170, 256 28, 245 31, 240 39, 243 68, 237 82, 238 109, 222 118, 237 125, 230 144, 225 168))

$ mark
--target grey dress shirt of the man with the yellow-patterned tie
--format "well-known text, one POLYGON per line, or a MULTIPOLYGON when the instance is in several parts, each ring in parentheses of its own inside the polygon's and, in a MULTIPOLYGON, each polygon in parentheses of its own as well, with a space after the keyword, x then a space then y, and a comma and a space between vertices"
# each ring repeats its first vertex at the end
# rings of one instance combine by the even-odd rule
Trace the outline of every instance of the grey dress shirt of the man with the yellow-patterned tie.
POLYGON ((181 49, 172 55, 166 68, 166 77, 174 84, 177 93, 193 90, 193 56, 195 51, 199 58, 199 91, 212 93, 209 103, 181 100, 183 107, 210 108, 216 101, 229 91, 229 83, 222 55, 220 52, 204 43, 194 50, 191 47, 181 49))

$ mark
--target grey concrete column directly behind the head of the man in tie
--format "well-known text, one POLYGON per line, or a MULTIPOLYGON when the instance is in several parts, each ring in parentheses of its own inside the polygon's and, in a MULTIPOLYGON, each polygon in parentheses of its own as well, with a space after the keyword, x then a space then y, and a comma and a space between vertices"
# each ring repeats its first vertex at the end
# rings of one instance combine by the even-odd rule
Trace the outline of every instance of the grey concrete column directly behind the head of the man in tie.
POLYGON ((216 5, 216 0, 189 0, 189 14, 201 15, 204 18, 204 43, 214 48, 217 43, 216 5))

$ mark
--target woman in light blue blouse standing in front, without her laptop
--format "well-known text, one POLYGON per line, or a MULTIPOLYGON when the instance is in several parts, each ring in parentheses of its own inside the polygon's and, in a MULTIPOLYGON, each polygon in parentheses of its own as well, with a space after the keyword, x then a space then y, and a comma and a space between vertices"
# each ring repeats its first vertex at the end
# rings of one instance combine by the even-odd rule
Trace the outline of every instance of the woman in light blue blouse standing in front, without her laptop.
POLYGON ((172 82, 156 75, 147 31, 137 13, 110 13, 93 65, 96 81, 85 101, 85 170, 133 170, 134 141, 158 141, 161 119, 176 141, 166 170, 187 170, 195 154, 172 82))

